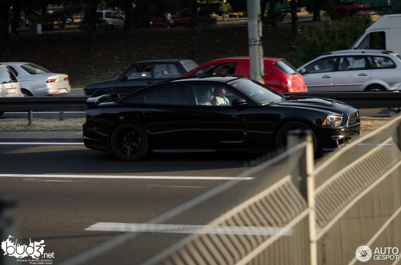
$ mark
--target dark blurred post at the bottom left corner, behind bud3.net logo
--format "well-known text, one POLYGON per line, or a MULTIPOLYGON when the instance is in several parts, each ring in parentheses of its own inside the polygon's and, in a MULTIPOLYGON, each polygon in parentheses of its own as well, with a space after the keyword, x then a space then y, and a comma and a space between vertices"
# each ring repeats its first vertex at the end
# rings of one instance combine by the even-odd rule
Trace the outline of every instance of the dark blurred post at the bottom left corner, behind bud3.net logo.
MULTIPOLYGON (((14 237, 13 242, 18 239, 16 206, 17 198, 15 196, 0 196, 0 242, 8 239, 9 236, 14 237)), ((16 260, 16 257, 0 254, 0 265, 19 264, 16 260)))

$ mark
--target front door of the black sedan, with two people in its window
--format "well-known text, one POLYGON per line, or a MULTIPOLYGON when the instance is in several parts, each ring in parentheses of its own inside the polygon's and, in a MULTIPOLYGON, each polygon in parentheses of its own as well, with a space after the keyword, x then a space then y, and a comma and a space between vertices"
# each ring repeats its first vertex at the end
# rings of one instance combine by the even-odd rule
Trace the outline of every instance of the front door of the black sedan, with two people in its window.
MULTIPOLYGON (((232 106, 243 98, 223 85, 194 84, 191 89, 194 144, 199 149, 254 148, 257 133, 255 106, 232 106)), ((245 99, 245 98, 244 98, 245 99)))

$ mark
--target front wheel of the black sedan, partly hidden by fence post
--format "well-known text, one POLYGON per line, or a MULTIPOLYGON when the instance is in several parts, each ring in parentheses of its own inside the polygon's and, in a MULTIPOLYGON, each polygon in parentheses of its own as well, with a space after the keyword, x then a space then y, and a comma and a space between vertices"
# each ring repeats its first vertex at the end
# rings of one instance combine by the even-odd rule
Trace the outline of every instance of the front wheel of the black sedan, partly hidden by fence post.
POLYGON ((313 150, 315 155, 318 152, 318 138, 316 137, 315 132, 312 128, 303 122, 299 121, 292 121, 284 124, 277 132, 276 139, 275 139, 275 146, 277 150, 285 150, 287 149, 288 145, 288 131, 289 130, 296 130, 296 129, 304 129, 310 130, 312 133, 312 141, 313 141, 313 150))

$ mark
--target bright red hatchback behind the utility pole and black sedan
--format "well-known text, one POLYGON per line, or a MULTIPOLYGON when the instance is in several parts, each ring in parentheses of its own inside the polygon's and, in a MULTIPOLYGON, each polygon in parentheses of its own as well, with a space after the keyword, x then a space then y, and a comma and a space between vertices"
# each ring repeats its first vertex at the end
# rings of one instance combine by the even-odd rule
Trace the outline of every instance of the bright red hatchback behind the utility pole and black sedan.
MULTIPOLYGON (((283 58, 263 57, 265 62, 265 85, 277 92, 308 92, 304 78, 283 58)), ((249 57, 229 57, 213 60, 196 67, 183 76, 200 74, 237 74, 251 77, 249 57)))

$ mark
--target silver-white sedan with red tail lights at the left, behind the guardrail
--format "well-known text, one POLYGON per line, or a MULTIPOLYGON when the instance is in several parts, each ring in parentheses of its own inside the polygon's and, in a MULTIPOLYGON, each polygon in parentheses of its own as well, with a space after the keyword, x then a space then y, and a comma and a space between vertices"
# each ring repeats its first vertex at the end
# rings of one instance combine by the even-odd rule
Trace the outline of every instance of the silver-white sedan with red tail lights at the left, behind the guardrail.
POLYGON ((1 62, 17 76, 24 96, 68 96, 71 86, 67 74, 56 74, 29 62, 1 62))

